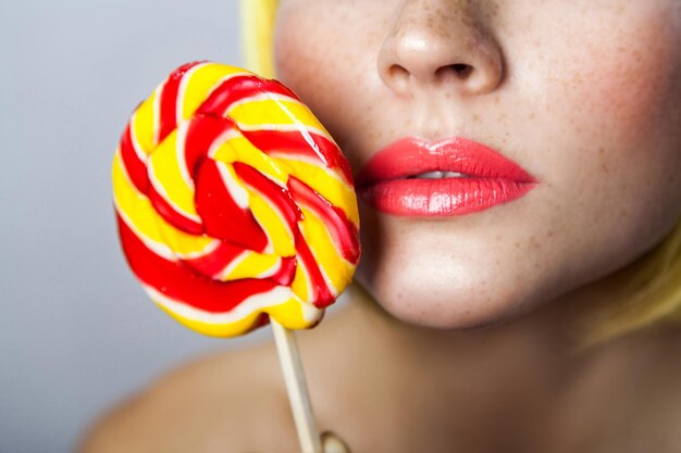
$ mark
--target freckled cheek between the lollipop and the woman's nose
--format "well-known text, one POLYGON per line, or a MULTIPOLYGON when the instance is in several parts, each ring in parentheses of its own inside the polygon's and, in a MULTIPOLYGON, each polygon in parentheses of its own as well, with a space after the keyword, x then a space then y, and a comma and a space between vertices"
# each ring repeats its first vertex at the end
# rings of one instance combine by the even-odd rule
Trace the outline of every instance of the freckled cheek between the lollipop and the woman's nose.
POLYGON ((383 2, 290 1, 277 15, 277 78, 310 106, 354 168, 359 156, 352 141, 380 134, 371 118, 376 98, 388 95, 376 71, 389 23, 375 17, 385 16, 385 9, 383 2))

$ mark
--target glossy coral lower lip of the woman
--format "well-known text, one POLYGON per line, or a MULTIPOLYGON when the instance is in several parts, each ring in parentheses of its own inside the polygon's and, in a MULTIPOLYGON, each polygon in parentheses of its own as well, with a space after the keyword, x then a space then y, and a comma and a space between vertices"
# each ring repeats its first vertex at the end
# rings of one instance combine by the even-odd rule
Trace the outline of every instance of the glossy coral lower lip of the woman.
POLYGON ((392 179, 360 189, 379 211, 401 216, 451 216, 485 211, 516 200, 535 186, 507 179, 392 179))

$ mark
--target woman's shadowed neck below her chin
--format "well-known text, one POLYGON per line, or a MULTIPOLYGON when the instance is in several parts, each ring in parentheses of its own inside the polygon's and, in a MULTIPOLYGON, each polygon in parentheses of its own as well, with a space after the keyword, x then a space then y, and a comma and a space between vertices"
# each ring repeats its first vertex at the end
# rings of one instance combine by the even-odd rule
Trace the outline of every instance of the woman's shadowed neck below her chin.
MULTIPOLYGON (((598 348, 575 348, 580 338, 574 326, 606 293, 586 288, 512 322, 437 330, 396 319, 356 286, 337 315, 306 336, 309 363, 325 364, 311 381, 339 379, 334 381, 338 388, 351 382, 364 389, 358 400, 366 401, 362 411, 374 419, 406 417, 413 432, 429 432, 442 442, 446 439, 438 436, 445 435, 485 439, 494 426, 498 439, 511 442, 504 449, 515 444, 546 451, 543 446, 562 426, 560 407, 567 405, 561 399, 572 394, 566 390, 583 381, 579 378, 587 376, 592 354, 598 353, 598 348), (334 375, 333 369, 351 373, 334 375), (429 416, 421 423, 414 413, 429 416), (441 432, 441 421, 434 420, 454 421, 441 432)), ((334 407, 321 411, 334 414, 334 407)), ((394 433, 398 423, 385 419, 386 426, 372 426, 377 438, 381 429, 394 433)))

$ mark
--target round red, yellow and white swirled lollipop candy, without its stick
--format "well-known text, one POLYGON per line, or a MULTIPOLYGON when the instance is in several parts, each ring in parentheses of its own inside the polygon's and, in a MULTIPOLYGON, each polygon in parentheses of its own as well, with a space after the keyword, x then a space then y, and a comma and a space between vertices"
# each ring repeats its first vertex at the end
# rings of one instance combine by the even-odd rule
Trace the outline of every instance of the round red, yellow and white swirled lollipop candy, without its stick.
POLYGON ((189 63, 133 113, 113 162, 123 250, 151 299, 200 332, 317 324, 359 260, 347 161, 286 87, 189 63))

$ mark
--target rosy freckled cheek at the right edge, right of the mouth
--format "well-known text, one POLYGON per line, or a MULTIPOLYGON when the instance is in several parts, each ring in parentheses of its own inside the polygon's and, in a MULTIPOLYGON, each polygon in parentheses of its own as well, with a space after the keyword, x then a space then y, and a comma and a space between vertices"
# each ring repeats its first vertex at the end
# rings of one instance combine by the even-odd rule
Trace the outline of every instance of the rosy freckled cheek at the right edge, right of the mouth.
POLYGON ((571 46, 537 77, 552 149, 536 162, 565 196, 562 211, 583 217, 570 221, 574 230, 608 241, 620 261, 652 247, 681 211, 681 27, 642 4, 571 27, 572 39, 555 36, 550 48, 571 46))

